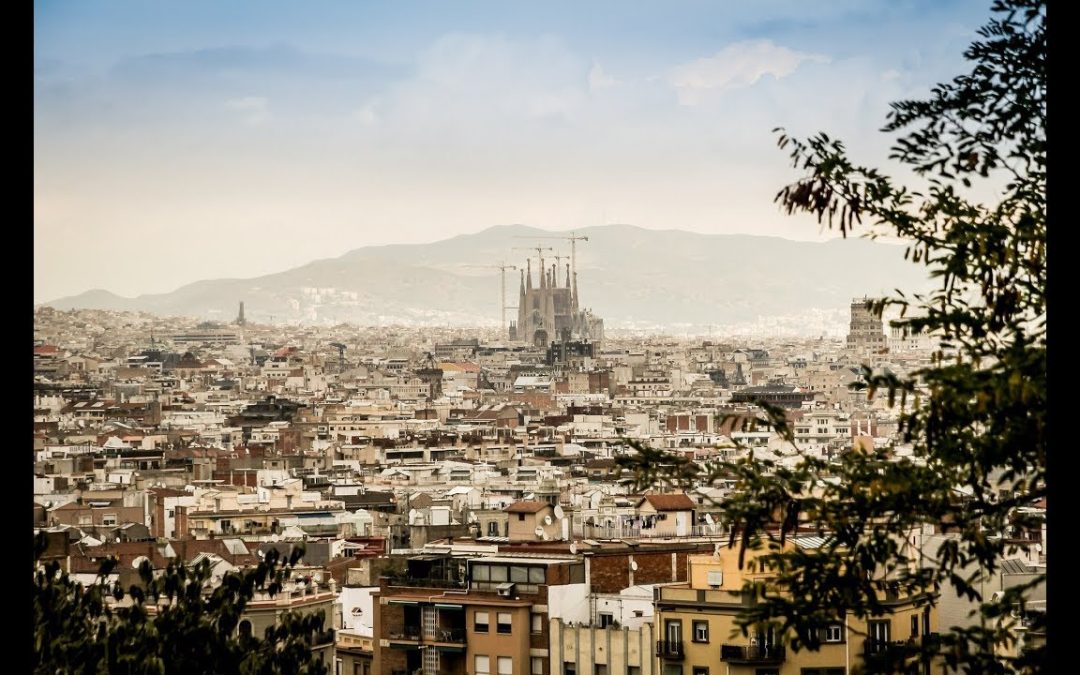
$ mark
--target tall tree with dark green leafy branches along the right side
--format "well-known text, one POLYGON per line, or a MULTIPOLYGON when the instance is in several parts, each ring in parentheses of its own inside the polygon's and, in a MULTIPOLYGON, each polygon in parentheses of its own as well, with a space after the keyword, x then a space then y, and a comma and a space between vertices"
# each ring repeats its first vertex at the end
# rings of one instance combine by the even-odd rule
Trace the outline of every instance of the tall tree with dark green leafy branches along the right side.
MULTIPOLYGON (((927 100, 893 104, 882 130, 906 132, 891 159, 924 187, 907 188, 854 164, 843 144, 824 133, 800 140, 777 130, 779 146, 805 172, 778 193, 782 208, 813 214, 843 235, 866 228, 872 238, 899 237, 908 242, 905 256, 939 282, 930 293, 897 289, 873 306, 879 315, 899 310, 893 325, 941 338, 931 365, 907 378, 864 366, 859 386, 867 399, 885 395, 899 408, 900 434, 914 456, 897 459, 878 448, 836 461, 804 456, 795 465, 751 457, 677 474, 665 472, 671 459, 658 450, 622 462, 639 485, 654 484, 658 472, 687 486, 737 482, 721 504, 732 541, 743 552, 766 546, 757 561, 775 572, 747 589, 757 600, 740 618, 744 631, 773 622, 795 649, 814 649, 822 624, 845 612, 879 615, 890 593, 926 604, 948 591, 980 603, 980 625, 868 661, 872 671, 902 671, 912 657, 968 672, 1042 665, 1041 649, 1007 654, 1015 643, 1014 610, 1044 575, 1000 598, 983 597, 976 579, 1022 546, 1009 542, 1010 532, 1038 523, 1020 508, 1045 497, 1044 5, 995 2, 980 36, 964 54, 974 64, 969 75, 936 86, 927 100), (970 197, 976 181, 996 191, 995 203, 970 197), (909 532, 926 525, 954 536, 937 550, 910 550, 909 532), (826 543, 781 551, 797 526, 815 528, 826 543)), ((800 454, 782 411, 761 409, 761 423, 800 454)))

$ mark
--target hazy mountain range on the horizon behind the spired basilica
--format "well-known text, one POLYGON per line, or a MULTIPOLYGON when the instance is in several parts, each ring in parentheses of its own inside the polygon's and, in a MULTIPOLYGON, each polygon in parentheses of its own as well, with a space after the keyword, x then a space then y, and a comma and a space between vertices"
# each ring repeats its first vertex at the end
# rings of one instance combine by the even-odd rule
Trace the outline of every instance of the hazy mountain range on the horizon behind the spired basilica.
MULTIPOLYGON (((929 287, 904 247, 867 239, 792 241, 606 225, 575 230, 581 306, 620 325, 725 325, 808 310, 846 310, 853 297, 929 287)), ((147 311, 231 321, 244 301, 249 321, 494 325, 500 264, 518 270, 537 246, 558 255, 559 284, 570 232, 497 226, 429 244, 365 246, 337 258, 252 279, 214 279, 172 293, 124 298, 107 291, 58 298, 56 309, 147 311), (532 247, 531 252, 528 249, 532 247)), ((507 305, 521 279, 507 271, 507 305)), ((508 320, 516 311, 507 310, 508 320)))

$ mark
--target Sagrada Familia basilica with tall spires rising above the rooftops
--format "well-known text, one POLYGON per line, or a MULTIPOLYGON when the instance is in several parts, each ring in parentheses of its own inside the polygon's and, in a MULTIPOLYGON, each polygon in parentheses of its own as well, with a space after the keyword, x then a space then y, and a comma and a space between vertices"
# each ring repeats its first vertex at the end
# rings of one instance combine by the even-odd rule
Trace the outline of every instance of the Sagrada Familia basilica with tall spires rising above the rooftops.
POLYGON ((544 269, 540 258, 540 279, 532 285, 532 260, 522 270, 517 299, 517 322, 510 322, 510 339, 546 348, 552 342, 591 341, 604 339, 604 320, 591 310, 578 306, 578 273, 571 286, 570 266, 566 266, 566 284, 558 285, 554 265, 544 269))

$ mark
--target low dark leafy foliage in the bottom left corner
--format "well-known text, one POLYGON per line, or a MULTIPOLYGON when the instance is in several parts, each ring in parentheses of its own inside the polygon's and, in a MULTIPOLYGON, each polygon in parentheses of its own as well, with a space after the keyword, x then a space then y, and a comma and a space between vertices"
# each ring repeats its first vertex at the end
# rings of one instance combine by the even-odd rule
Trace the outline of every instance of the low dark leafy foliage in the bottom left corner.
MULTIPOLYGON (((36 540, 36 563, 44 550, 36 540)), ((33 672, 243 673, 323 675, 312 640, 323 632, 322 613, 286 612, 264 638, 239 634, 244 608, 256 591, 281 592, 302 546, 287 558, 275 550, 255 568, 227 572, 210 583, 210 564, 170 563, 154 575, 143 562, 139 580, 121 588, 108 582, 110 558, 96 582, 84 586, 55 561, 36 564, 33 576, 33 672)))

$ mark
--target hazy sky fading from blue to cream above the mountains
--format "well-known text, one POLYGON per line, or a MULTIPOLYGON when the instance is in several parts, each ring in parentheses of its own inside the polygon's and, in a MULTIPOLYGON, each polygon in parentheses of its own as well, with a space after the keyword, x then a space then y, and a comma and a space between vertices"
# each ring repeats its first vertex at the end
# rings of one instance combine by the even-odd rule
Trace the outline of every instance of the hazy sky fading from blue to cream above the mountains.
POLYGON ((604 222, 821 237, 774 126, 888 165, 971 0, 35 3, 35 300, 604 222))

